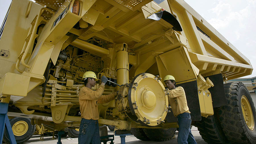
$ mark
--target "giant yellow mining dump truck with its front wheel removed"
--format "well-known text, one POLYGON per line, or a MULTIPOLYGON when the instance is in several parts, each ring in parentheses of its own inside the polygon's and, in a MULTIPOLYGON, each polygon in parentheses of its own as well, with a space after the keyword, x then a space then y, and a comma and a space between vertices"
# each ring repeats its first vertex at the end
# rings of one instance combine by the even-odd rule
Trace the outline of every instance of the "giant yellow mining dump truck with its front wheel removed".
MULTIPOLYGON (((255 143, 256 114, 242 83, 250 61, 183 0, 13 0, 0 31, 1 103, 51 130, 79 128, 82 75, 110 81, 100 124, 165 141, 178 127, 161 77, 185 89, 208 143, 255 143)), ((98 85, 94 87, 96 89, 98 85)))

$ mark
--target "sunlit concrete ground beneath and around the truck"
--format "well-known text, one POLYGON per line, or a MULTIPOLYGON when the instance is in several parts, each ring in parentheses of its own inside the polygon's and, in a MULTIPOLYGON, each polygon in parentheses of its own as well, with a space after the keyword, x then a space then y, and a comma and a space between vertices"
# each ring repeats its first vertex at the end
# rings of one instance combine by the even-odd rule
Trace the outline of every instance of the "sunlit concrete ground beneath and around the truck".
MULTIPOLYGON (((194 135, 195 137, 195 140, 197 141, 198 144, 207 144, 201 137, 201 135, 199 134, 199 131, 197 130, 196 127, 192 127, 191 129, 191 132, 192 134, 194 135)), ((108 134, 109 135, 112 135, 113 132, 111 132, 110 130, 108 130, 108 134)), ((171 139, 170 141, 141 141, 139 139, 137 139, 135 136, 133 135, 127 135, 125 137, 125 143, 126 144, 150 144, 150 143, 157 143, 157 144, 176 144, 177 143, 177 131, 176 131, 176 135, 175 135, 175 139, 171 139)), ((40 140, 40 135, 34 135, 32 136, 32 138, 30 138, 26 143, 27 144, 56 144, 57 143, 57 139, 54 139, 54 140, 51 140, 52 137, 50 136, 45 136, 44 137, 44 140, 41 141, 40 140)), ((66 143, 70 143, 70 144, 75 144, 75 143, 78 143, 78 138, 73 138, 71 140, 68 140, 68 136, 67 137, 63 137, 61 138, 61 142, 63 144, 66 144, 66 143)), ((114 137, 114 143, 115 144, 120 144, 121 143, 121 139, 120 139, 120 136, 115 136, 114 137)), ((109 142, 108 142, 109 143, 109 142)))

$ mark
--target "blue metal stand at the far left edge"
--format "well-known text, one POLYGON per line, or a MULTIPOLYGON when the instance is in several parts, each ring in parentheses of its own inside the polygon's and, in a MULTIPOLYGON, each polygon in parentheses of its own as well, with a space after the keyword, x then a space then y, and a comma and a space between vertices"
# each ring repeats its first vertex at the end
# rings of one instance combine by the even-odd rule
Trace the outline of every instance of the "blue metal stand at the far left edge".
POLYGON ((11 144, 16 144, 15 137, 13 135, 13 130, 7 116, 8 112, 8 103, 0 103, 0 144, 3 141, 3 135, 5 132, 5 128, 9 134, 9 139, 11 144))

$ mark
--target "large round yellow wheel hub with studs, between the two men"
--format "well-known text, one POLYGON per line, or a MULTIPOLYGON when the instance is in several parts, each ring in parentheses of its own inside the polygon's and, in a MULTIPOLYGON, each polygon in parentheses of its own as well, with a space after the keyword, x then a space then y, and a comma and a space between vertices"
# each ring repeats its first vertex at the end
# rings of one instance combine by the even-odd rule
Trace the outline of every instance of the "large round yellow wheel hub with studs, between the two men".
POLYGON ((164 122, 168 112, 168 97, 160 79, 152 74, 138 74, 128 90, 131 114, 143 126, 157 126, 164 122))

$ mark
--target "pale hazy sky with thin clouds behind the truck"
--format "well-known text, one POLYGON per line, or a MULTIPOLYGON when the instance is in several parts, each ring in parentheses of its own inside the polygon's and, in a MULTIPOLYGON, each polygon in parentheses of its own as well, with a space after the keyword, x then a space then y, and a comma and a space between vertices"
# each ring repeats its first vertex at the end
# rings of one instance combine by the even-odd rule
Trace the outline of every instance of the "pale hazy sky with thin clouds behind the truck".
MULTIPOLYGON (((245 57, 256 76, 256 0, 185 0, 197 13, 210 23, 245 57)), ((9 8, 11 0, 4 0, 0 5, 0 24, 9 8)))

